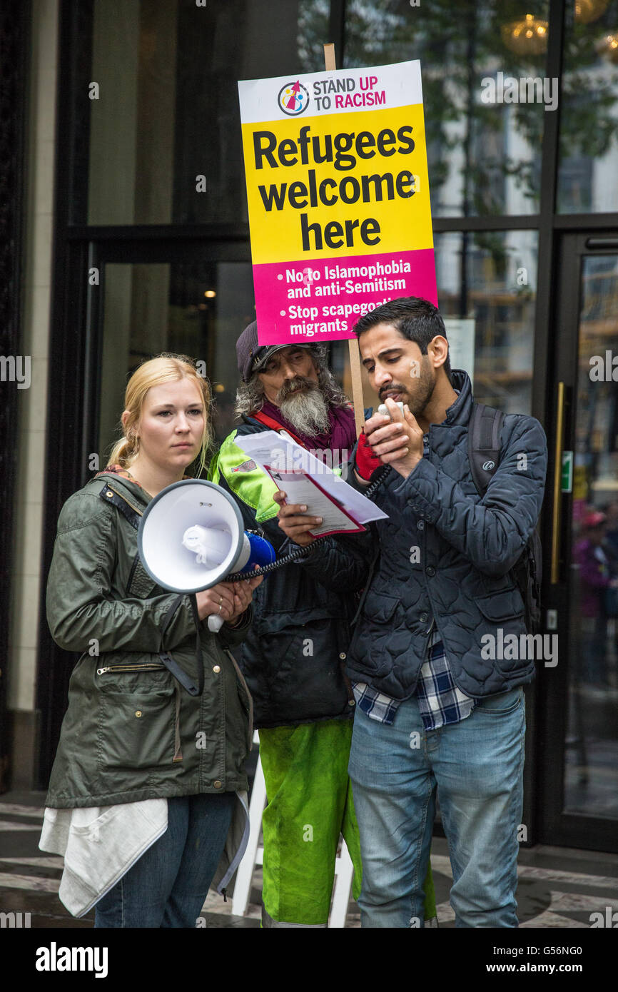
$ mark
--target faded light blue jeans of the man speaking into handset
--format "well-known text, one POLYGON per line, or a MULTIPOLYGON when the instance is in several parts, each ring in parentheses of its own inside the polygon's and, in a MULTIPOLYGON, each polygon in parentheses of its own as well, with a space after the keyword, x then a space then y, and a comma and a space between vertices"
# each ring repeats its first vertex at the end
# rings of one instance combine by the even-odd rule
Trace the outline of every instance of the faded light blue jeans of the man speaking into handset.
POLYGON ((522 686, 427 732, 414 696, 392 726, 356 711, 349 775, 363 863, 362 927, 423 926, 436 792, 455 926, 517 927, 525 733, 522 686))

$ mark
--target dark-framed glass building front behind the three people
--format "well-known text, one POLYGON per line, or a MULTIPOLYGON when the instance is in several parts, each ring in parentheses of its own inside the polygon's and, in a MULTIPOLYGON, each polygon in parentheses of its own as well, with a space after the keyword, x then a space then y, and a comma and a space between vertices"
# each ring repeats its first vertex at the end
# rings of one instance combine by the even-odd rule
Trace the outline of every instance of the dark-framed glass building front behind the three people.
POLYGON ((589 580, 618 562, 618 0, 7 9, 3 788, 47 785, 74 662, 45 620, 56 523, 127 374, 203 359, 219 438, 233 420, 255 312, 236 82, 319 70, 332 41, 341 67, 421 60, 447 334, 476 399, 548 434, 522 840, 618 850, 618 619, 589 580))

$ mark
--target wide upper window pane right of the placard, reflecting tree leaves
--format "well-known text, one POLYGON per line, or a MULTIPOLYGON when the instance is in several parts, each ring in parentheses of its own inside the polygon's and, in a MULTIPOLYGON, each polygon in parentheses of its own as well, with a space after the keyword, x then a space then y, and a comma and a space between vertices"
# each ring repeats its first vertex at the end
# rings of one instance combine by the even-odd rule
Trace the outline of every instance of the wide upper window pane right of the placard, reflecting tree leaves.
POLYGON ((544 90, 549 3, 535 5, 541 48, 524 31, 517 51, 513 25, 526 11, 513 0, 422 10, 348 0, 345 10, 346 65, 421 60, 433 216, 538 212, 543 129, 557 105, 557 86, 544 90))

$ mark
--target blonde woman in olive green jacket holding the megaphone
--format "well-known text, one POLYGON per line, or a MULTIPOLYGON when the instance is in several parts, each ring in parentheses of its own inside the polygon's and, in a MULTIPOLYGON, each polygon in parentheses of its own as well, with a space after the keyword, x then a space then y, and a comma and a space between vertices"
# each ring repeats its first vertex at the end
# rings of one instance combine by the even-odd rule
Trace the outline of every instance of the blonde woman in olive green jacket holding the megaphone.
POLYGON ((151 499, 193 462, 205 467, 209 406, 190 359, 142 364, 110 464, 59 519, 48 622, 81 657, 40 846, 63 854, 62 902, 74 916, 95 906, 97 928, 195 927, 215 872, 225 895, 242 856, 251 700, 226 649, 248 630, 261 578, 219 582, 191 605, 137 552, 151 499), (210 614, 225 621, 218 634, 210 614))

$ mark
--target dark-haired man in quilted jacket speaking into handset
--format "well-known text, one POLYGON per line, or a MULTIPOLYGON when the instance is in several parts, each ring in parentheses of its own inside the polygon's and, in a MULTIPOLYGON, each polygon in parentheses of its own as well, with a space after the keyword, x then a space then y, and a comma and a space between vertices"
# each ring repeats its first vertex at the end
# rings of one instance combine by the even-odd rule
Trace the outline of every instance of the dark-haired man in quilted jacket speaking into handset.
MULTIPOLYGON (((539 638, 526 634, 511 569, 541 511, 546 437, 534 418, 506 415, 481 497, 467 447, 471 383, 450 370, 438 310, 395 300, 354 331, 390 414, 367 420, 354 462, 359 486, 389 466, 372 496, 389 517, 375 528, 380 557, 346 668, 356 699, 349 774, 362 926, 423 926, 437 797, 455 925, 517 927, 523 685, 534 678, 539 638)), ((281 506, 280 526, 300 545, 312 521, 281 506)), ((321 554, 308 566, 319 567, 321 554)))

